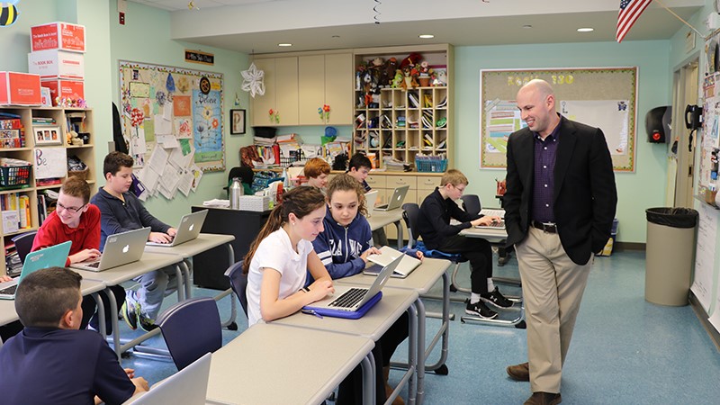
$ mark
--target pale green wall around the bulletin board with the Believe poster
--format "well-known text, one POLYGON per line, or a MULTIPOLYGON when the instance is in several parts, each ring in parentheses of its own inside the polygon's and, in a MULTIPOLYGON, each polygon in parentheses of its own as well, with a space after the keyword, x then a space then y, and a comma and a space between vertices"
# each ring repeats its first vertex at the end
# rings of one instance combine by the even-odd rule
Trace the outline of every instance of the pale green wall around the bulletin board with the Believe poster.
MULTIPOLYGON (((114 2, 113 2, 114 3, 114 2)), ((199 46, 177 40, 170 40, 170 13, 157 8, 148 7, 143 4, 128 2, 128 11, 125 15, 125 25, 118 23, 118 14, 114 5, 110 7, 110 13, 104 15, 104 21, 110 25, 110 68, 112 76, 106 86, 108 93, 112 94, 112 101, 120 104, 118 60, 131 60, 136 62, 152 63, 172 67, 185 67, 194 70, 218 72, 223 74, 223 103, 224 103, 224 125, 225 125, 225 166, 227 171, 233 166, 239 166, 238 149, 240 146, 252 143, 252 136, 228 135, 229 133, 229 110, 231 108, 245 108, 249 106, 248 95, 240 90, 242 78, 240 71, 249 65, 246 54, 239 52, 216 49, 206 46, 199 46), (201 49, 215 55, 215 65, 207 66, 195 63, 184 62, 184 49, 201 49), (239 107, 234 106, 235 97, 238 94, 239 107)), ((110 112, 108 106, 108 112, 110 112)), ((249 115, 247 115, 249 117, 249 115)), ((108 139, 110 140, 110 133, 108 139)), ((105 142, 106 144, 106 142, 105 142)), ((107 148, 101 146, 96 148, 99 159, 99 167, 102 167, 102 158, 107 148)), ((102 170, 101 170, 102 171, 102 170)), ((191 205, 202 204, 203 201, 213 198, 226 198, 227 194, 222 187, 227 185, 228 175, 226 172, 207 172, 202 175, 202 180, 197 192, 190 193, 185 197, 177 193, 175 199, 168 202, 165 197, 157 196, 148 199, 145 206, 148 211, 169 224, 176 225, 180 216, 190 212, 191 205)), ((103 184, 103 179, 100 179, 103 184)))

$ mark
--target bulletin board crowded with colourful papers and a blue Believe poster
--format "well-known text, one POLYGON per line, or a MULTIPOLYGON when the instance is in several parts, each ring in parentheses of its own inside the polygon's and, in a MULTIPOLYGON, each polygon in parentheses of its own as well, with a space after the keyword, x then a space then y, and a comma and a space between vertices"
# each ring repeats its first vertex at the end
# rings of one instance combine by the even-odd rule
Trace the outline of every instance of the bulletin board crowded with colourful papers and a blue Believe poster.
MULTIPOLYGON (((119 76, 123 136, 136 168, 167 155, 185 171, 225 170, 222 74, 121 60, 119 76)), ((157 175, 164 171, 163 164, 157 175)))

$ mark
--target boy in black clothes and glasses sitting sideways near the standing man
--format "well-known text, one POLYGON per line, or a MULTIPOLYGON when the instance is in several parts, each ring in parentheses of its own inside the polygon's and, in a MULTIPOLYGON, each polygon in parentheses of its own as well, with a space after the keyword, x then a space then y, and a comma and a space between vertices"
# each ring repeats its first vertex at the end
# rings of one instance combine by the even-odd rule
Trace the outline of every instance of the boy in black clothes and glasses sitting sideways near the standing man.
POLYGON ((498 312, 492 311, 484 302, 498 308, 512 306, 492 283, 492 249, 483 238, 465 238, 461 230, 478 225, 488 225, 499 217, 471 215, 457 206, 455 201, 463 196, 467 177, 456 169, 450 169, 440 180, 440 186, 428 195, 420 206, 418 228, 425 246, 446 253, 459 253, 470 260, 472 293, 465 313, 485 319, 493 319, 498 312), (461 223, 450 225, 455 219, 461 223))

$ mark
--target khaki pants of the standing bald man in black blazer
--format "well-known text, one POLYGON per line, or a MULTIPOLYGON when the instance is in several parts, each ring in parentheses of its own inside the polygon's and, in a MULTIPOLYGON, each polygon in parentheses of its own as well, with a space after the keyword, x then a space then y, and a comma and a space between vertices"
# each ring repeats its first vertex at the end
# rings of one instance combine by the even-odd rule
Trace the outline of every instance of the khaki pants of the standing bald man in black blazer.
POLYGON ((528 229, 515 245, 527 321, 527 361, 532 392, 560 392, 563 363, 588 283, 592 259, 572 262, 556 233, 528 229))

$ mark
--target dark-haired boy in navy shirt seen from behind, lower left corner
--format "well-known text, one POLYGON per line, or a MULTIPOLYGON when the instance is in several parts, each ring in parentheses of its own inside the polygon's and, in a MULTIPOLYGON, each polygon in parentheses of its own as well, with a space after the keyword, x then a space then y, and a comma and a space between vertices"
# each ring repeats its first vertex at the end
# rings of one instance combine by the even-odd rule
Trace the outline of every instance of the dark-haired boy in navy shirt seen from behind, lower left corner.
POLYGON ((121 404, 148 391, 144 378, 123 370, 102 336, 77 330, 83 318, 80 280, 63 267, 23 278, 15 311, 25 329, 0 348, 3 403, 121 404))

